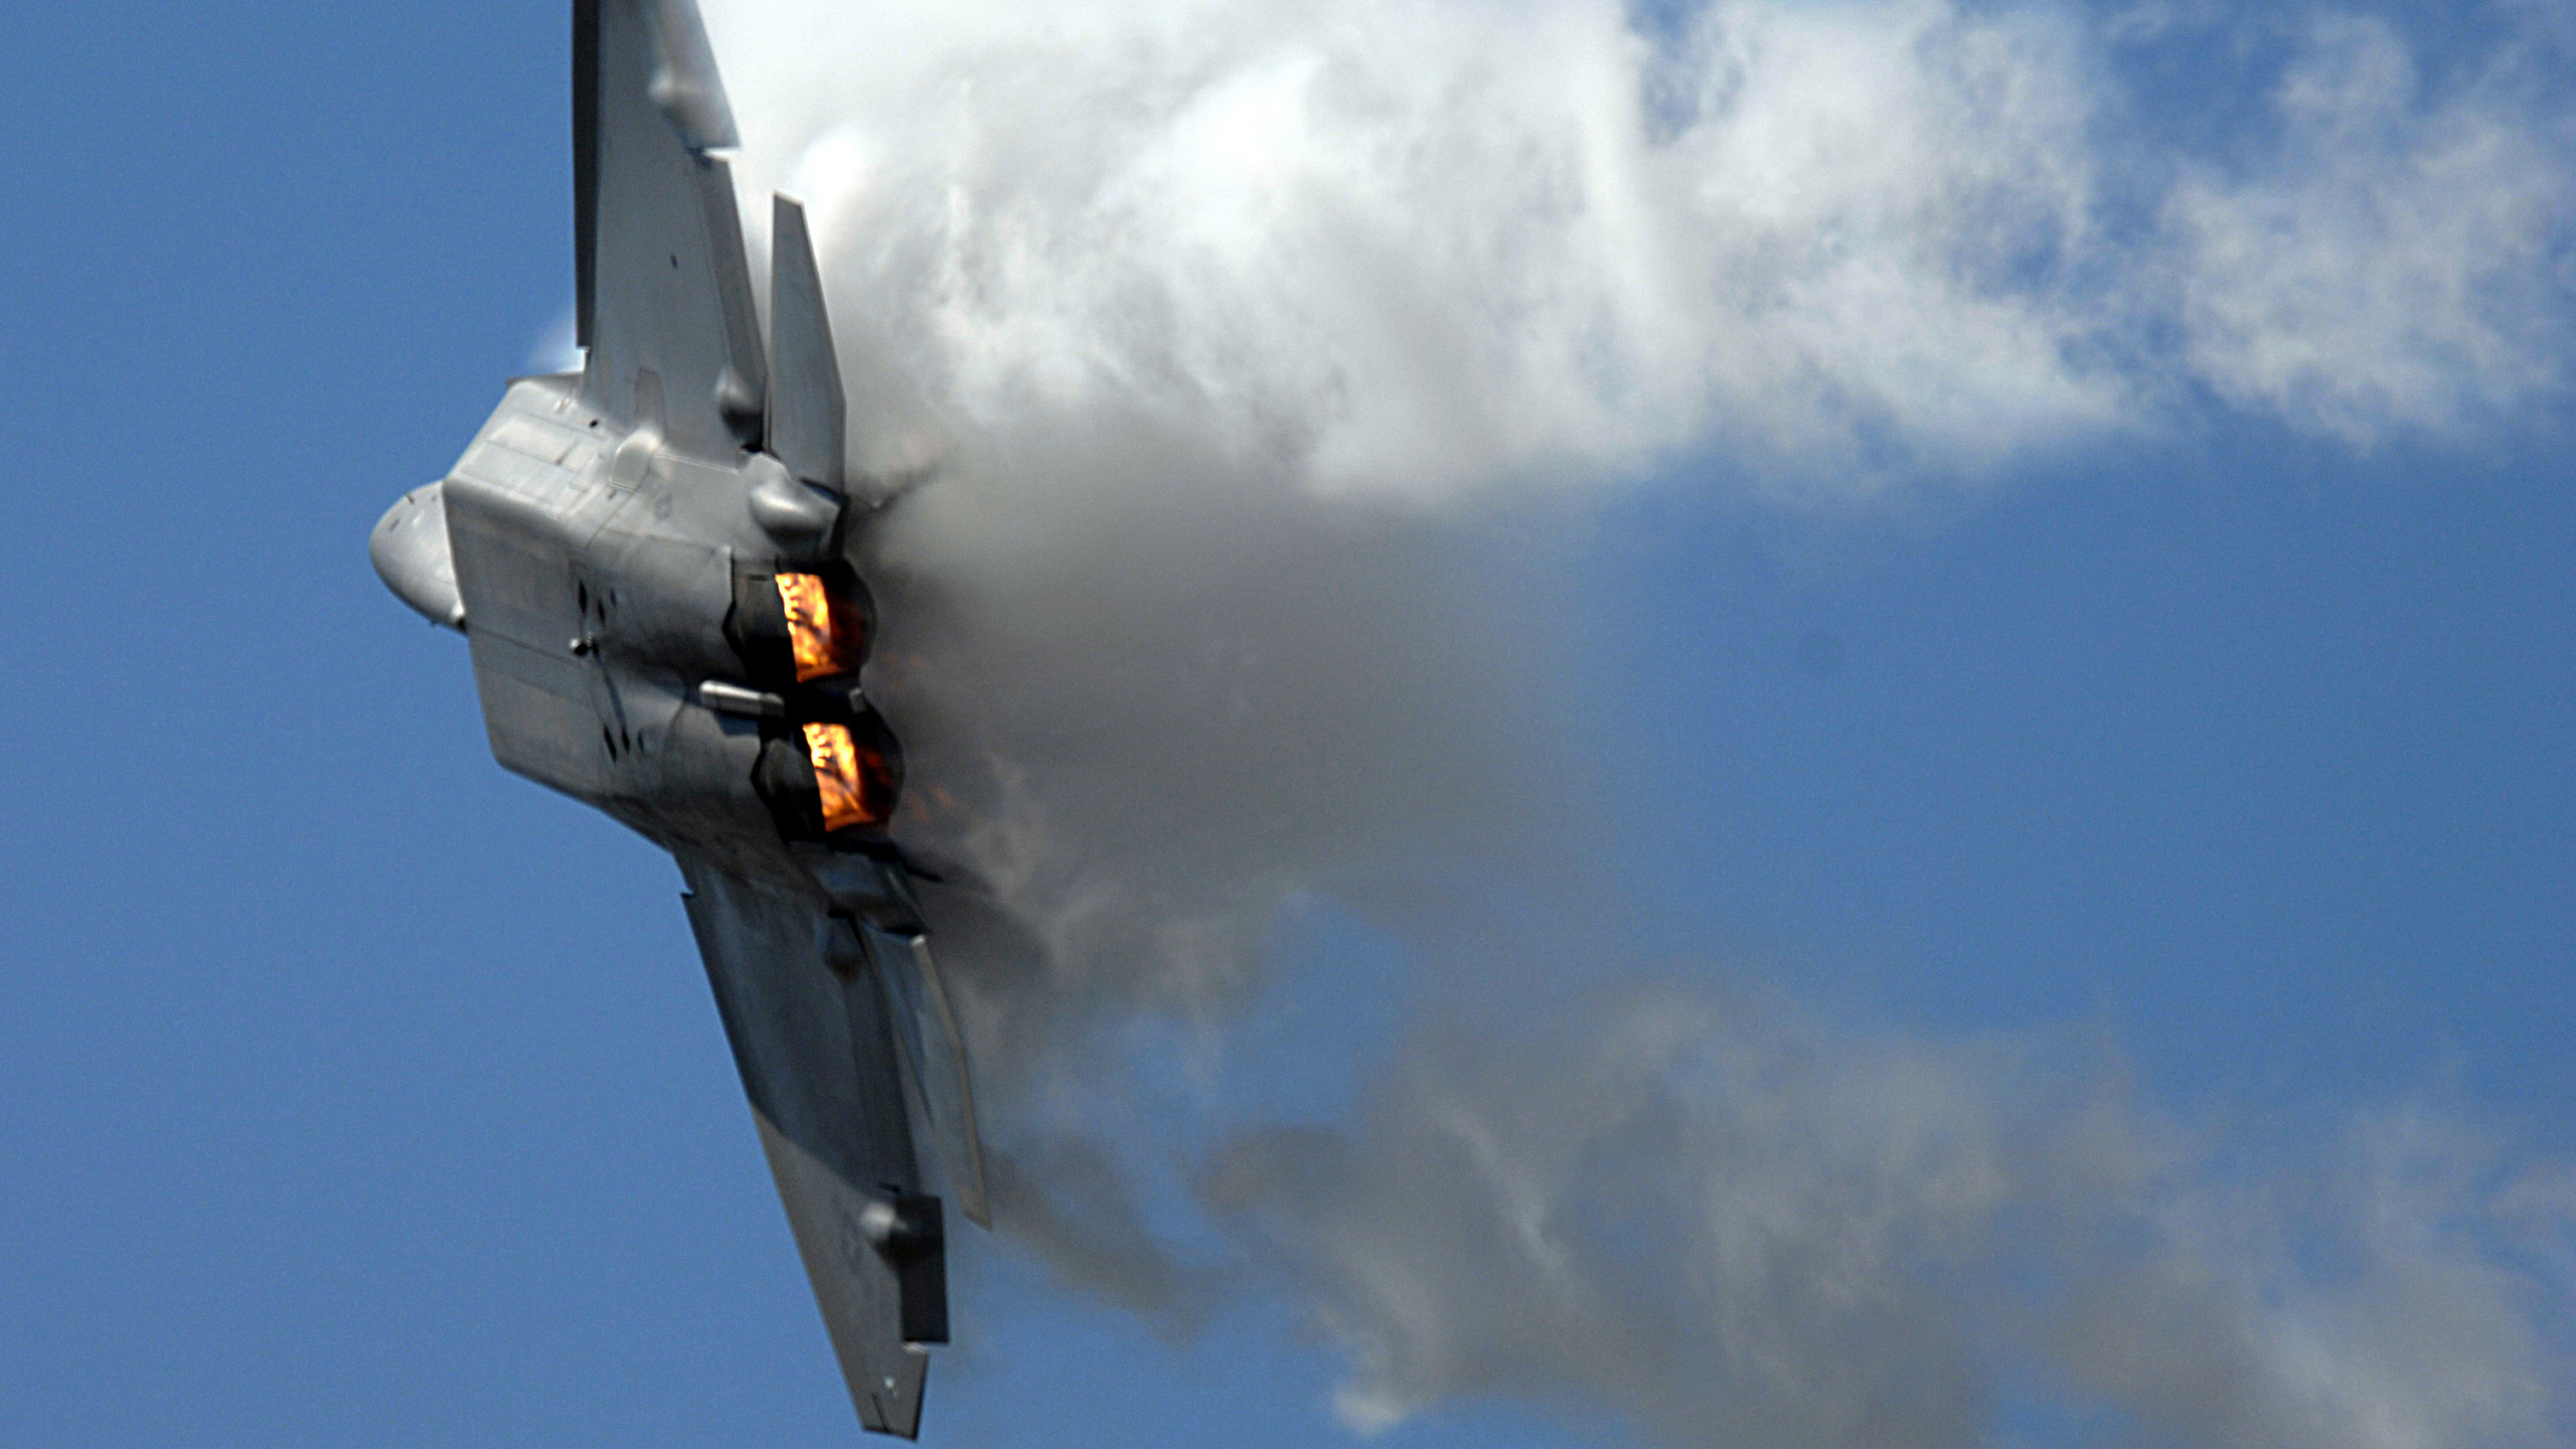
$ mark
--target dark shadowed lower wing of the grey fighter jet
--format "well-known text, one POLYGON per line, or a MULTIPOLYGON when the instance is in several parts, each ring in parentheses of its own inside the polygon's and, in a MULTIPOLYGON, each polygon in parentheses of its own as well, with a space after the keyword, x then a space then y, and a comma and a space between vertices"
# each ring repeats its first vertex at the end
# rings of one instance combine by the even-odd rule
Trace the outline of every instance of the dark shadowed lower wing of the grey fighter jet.
MULTIPOLYGON (((783 887, 680 856, 688 923, 858 1418, 909 1439, 948 1341, 940 1199, 922 1194, 899 1067, 902 962, 783 887)), ((884 941, 878 936, 878 941, 884 941)), ((917 987, 914 987, 917 990, 917 987)), ((938 1127, 933 1127, 938 1129, 938 1127)))

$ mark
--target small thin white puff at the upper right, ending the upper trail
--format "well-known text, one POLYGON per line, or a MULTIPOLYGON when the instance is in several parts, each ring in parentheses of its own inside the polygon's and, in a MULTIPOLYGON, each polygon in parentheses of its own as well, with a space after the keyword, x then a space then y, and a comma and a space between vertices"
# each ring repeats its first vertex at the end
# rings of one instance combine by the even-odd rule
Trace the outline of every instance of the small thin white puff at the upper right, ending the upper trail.
POLYGON ((2192 168, 2166 206, 2192 371, 2362 446, 2563 387, 2576 137, 2499 70, 2427 98, 2385 23, 2321 21, 2277 93, 2285 147, 2192 168))

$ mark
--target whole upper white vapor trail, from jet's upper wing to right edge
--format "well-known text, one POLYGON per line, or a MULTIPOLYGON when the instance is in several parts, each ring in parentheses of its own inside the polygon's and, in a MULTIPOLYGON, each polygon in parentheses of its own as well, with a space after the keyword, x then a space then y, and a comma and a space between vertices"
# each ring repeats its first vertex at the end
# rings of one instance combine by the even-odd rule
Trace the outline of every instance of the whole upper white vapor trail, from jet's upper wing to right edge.
MULTIPOLYGON (((716 13, 747 183, 817 206, 863 454, 1151 413, 1324 492, 1801 487, 2156 428, 2208 387, 2352 441, 2561 384, 2566 54, 2427 80, 2316 18, 2262 124, 2164 144, 2120 75, 2267 13, 1613 0, 716 13)), ((2223 49, 2223 46, 2221 46, 2223 49)), ((2161 72, 2159 72, 2161 75, 2161 72)), ((2169 80, 2164 83, 2169 85, 2169 80)), ((755 214, 765 214, 757 211, 755 214)))

